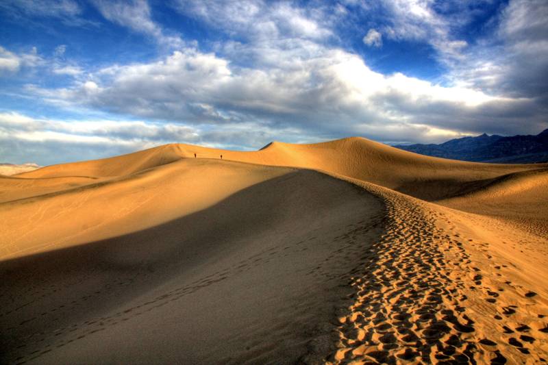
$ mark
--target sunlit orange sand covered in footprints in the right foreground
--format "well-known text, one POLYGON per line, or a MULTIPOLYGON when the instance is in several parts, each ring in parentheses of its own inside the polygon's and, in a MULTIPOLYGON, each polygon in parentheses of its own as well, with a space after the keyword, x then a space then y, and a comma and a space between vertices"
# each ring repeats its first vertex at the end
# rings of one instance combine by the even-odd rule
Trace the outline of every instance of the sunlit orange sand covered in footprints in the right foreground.
POLYGON ((386 199, 388 225, 353 276, 356 301, 339 314, 332 363, 543 362, 545 241, 482 216, 369 191, 386 199))

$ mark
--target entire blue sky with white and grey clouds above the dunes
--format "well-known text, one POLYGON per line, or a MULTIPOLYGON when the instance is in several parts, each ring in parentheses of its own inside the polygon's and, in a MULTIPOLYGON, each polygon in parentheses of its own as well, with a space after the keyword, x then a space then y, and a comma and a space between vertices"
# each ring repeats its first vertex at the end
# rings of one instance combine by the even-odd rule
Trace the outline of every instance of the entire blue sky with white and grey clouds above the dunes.
POLYGON ((0 162, 548 128, 548 1, 0 1, 0 162))

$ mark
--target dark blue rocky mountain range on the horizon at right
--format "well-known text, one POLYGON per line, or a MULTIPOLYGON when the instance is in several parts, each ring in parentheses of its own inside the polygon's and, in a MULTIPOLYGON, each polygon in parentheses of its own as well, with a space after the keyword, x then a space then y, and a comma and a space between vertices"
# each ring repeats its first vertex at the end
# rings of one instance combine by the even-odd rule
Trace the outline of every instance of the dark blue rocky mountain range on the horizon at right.
POLYGON ((536 136, 463 137, 441 144, 410 144, 399 149, 452 160, 503 164, 548 162, 548 129, 536 136))

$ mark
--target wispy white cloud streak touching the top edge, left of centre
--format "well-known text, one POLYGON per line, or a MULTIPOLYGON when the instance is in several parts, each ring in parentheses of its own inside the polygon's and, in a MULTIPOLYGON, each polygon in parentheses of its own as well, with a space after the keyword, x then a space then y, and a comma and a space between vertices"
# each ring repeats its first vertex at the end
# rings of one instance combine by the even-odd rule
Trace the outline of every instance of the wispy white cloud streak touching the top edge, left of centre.
POLYGON ((183 45, 181 38, 166 35, 162 27, 152 20, 147 0, 95 0, 94 3, 104 18, 112 23, 151 36, 165 46, 177 48, 183 45))

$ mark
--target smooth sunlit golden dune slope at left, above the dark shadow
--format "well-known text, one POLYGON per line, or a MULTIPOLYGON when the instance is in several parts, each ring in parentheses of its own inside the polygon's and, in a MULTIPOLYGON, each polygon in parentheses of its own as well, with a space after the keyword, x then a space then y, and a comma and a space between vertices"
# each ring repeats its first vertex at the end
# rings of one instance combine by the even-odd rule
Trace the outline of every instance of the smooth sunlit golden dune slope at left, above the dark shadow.
MULTIPOLYGON (((290 171, 234 162, 179 160, 132 175, 99 182, 92 179, 92 184, 88 179, 79 181, 88 183, 83 186, 8 201, 0 205, 3 223, 10 227, 2 234, 1 257, 59 249, 152 227, 203 210, 238 190, 290 171)), ((46 184, 52 179, 62 178, 50 177, 46 184)), ((24 184, 17 188, 27 192, 24 184)))

